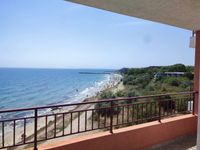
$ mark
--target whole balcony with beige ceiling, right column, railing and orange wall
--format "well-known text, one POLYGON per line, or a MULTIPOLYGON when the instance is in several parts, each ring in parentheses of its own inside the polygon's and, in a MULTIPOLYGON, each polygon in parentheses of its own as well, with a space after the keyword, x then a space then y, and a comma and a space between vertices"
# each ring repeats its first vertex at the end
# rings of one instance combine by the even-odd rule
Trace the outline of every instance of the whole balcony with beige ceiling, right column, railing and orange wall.
MULTIPOLYGON (((200 129, 197 123, 200 3, 178 0, 68 1, 193 31, 196 36, 195 92, 0 110, 0 149, 170 149, 176 148, 177 143, 183 144, 180 149, 195 149, 197 126, 200 129), (29 115, 24 117, 23 114, 29 115), (180 140, 180 137, 185 139, 180 140), (188 137, 194 144, 184 147, 188 137)), ((197 136, 200 137, 199 131, 197 136)))

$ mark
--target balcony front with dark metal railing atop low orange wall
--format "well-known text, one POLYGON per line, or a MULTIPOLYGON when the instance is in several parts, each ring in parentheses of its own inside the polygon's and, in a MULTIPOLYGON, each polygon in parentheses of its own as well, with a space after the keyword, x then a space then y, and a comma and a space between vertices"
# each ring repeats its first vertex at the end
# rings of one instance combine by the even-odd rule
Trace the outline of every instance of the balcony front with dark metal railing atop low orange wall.
MULTIPOLYGON (((152 140, 146 139, 149 142, 135 144, 136 149, 146 148, 171 138, 193 133, 196 130, 196 116, 192 115, 196 94, 197 92, 181 92, 3 110, 0 111, 0 148, 20 147, 25 149, 33 146, 34 149, 37 149, 38 145, 43 143, 41 147, 39 145, 39 149, 57 149, 56 147, 59 146, 55 147, 55 145, 59 142, 55 142, 51 148, 48 148, 44 142, 72 135, 82 137, 78 141, 75 140, 75 143, 73 141, 73 144, 69 144, 72 147, 85 140, 90 143, 94 140, 104 139, 104 142, 100 143, 105 144, 106 147, 105 142, 108 140, 117 140, 117 138, 126 140, 126 136, 133 136, 137 141, 149 136, 149 138, 153 138, 152 140), (29 115, 19 117, 25 112, 29 115), (10 116, 9 119, 8 116, 10 116), (177 119, 179 122, 175 121, 177 119), (158 133, 161 130, 171 132, 172 129, 177 131, 171 135, 162 137, 162 134, 158 133), (91 134, 84 134, 89 132, 91 134), (93 132, 98 133, 93 134, 93 132), (153 133, 155 137, 151 135, 151 132, 155 132, 153 133), (150 135, 145 135, 145 133, 150 135)), ((64 145, 68 145, 65 142, 69 142, 71 139, 73 138, 65 140, 64 145)), ((125 143, 121 144, 125 145, 125 143)), ((128 145, 130 143, 127 143, 128 145)), ((65 147, 65 149, 67 148, 65 147)))

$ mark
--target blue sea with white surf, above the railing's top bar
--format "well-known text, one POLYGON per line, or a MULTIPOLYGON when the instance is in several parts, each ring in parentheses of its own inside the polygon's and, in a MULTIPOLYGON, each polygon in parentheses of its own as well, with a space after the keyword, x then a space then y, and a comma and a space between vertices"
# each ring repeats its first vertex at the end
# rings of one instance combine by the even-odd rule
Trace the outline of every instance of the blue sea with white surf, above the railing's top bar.
POLYGON ((109 82, 113 70, 0 68, 0 109, 81 102, 109 82))

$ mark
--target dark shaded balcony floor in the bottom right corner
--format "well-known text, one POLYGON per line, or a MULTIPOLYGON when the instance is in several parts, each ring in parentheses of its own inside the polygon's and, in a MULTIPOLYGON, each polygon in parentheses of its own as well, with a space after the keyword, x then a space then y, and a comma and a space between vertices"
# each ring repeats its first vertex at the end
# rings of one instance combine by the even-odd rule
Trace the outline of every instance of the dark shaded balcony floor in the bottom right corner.
POLYGON ((196 150, 196 135, 177 138, 145 150, 196 150))

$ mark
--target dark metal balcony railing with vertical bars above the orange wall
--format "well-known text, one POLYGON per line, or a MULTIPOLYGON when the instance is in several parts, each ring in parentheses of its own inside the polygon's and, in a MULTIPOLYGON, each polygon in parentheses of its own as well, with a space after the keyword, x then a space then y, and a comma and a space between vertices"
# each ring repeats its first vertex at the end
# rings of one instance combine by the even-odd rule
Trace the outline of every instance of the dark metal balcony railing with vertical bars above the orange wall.
POLYGON ((193 113, 196 92, 106 99, 0 111, 0 149, 193 113), (24 114, 26 116, 24 117, 24 114), (20 117, 23 116, 23 117, 20 117))

